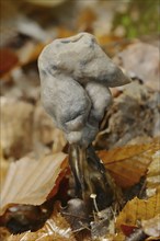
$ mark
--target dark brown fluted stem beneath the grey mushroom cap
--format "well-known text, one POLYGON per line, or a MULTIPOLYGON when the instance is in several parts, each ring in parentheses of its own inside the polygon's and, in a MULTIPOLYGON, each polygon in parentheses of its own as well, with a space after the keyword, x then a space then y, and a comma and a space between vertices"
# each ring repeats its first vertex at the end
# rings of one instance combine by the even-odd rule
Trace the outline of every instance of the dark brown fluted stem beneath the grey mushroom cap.
POLYGON ((75 177, 76 196, 83 199, 91 210, 110 206, 115 197, 115 183, 94 148, 70 145, 69 163, 75 177))

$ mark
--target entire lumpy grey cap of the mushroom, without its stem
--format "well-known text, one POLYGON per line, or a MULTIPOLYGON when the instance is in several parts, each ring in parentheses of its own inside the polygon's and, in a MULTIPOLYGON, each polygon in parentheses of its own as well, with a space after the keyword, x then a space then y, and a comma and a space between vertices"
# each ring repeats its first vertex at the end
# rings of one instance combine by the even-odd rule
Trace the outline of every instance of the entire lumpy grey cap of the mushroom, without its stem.
POLYGON ((108 87, 130 82, 88 33, 47 45, 38 69, 46 112, 70 144, 84 147, 95 138, 112 102, 108 87))

